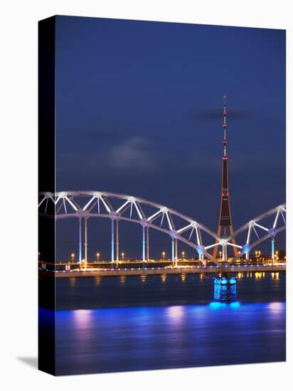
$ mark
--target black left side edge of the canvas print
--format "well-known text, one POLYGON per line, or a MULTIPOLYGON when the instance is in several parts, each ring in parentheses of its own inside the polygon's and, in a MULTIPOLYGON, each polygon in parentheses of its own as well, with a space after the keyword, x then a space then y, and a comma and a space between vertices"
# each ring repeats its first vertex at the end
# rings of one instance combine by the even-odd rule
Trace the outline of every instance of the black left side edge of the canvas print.
MULTIPOLYGON (((55 193, 55 16, 38 22, 38 192, 43 191, 55 193)), ((55 205, 48 208, 54 216, 55 205)), ((40 213, 38 258, 55 264, 55 219, 40 213)), ((55 375, 55 277, 40 269, 38 369, 55 375)))

